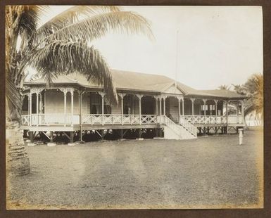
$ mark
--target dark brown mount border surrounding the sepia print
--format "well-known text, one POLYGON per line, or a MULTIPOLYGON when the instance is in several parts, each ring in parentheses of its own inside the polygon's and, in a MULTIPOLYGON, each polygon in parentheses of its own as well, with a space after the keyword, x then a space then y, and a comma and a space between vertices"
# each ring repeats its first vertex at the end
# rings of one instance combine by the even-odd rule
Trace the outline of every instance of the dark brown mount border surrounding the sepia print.
POLYGON ((0 217, 270 217, 271 216, 271 1, 270 0, 1 0, 0 1, 0 217), (264 76, 264 208, 192 210, 6 210, 5 128, 5 6, 27 5, 119 5, 119 6, 262 6, 264 76))

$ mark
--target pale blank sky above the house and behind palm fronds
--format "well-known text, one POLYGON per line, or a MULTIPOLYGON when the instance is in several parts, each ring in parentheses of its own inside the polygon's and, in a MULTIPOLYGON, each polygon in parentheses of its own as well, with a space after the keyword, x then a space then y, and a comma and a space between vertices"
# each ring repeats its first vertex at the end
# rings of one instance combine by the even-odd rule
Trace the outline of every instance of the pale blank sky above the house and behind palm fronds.
MULTIPOLYGON (((42 22, 68 7, 51 6, 42 22)), ((155 39, 110 33, 94 41, 110 68, 165 75, 194 89, 244 84, 253 73, 263 73, 260 6, 123 6, 122 10, 149 20, 155 39)))

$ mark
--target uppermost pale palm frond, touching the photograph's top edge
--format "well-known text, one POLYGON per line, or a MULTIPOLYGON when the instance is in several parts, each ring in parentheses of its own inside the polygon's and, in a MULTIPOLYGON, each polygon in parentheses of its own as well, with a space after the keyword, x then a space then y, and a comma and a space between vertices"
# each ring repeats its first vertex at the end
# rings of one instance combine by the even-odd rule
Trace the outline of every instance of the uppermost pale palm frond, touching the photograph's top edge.
POLYGON ((39 27, 37 32, 32 34, 31 41, 33 44, 38 44, 41 39, 49 37, 53 32, 61 30, 67 25, 77 23, 82 18, 89 18, 99 13, 118 11, 120 11, 120 7, 118 6, 73 6, 54 16, 39 27))

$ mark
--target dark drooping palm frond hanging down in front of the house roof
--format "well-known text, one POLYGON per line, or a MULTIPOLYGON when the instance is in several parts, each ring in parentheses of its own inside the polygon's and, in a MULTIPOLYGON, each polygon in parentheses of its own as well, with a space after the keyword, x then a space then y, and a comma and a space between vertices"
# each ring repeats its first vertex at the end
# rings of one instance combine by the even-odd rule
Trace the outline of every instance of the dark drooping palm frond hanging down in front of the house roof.
POLYGON ((106 61, 98 50, 84 42, 55 41, 33 53, 29 64, 37 69, 39 75, 49 84, 59 75, 71 73, 84 75, 87 81, 103 85, 112 103, 118 102, 111 71, 106 61))

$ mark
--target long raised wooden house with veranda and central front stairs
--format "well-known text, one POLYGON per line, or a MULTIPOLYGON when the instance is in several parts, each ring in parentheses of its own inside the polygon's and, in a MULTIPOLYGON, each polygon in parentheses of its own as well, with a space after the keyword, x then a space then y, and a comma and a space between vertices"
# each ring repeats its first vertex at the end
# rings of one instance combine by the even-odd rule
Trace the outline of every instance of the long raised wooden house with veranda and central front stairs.
POLYGON ((244 98, 234 91, 196 90, 162 75, 112 70, 118 105, 106 101, 102 86, 78 74, 25 82, 22 126, 31 141, 61 133, 74 141, 87 132, 150 130, 163 139, 195 139, 197 134, 227 133, 244 127, 244 98), (229 105, 235 108, 229 113, 229 105), (49 134, 50 133, 50 134, 49 134))

